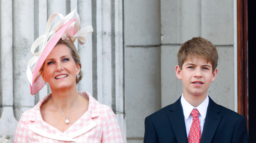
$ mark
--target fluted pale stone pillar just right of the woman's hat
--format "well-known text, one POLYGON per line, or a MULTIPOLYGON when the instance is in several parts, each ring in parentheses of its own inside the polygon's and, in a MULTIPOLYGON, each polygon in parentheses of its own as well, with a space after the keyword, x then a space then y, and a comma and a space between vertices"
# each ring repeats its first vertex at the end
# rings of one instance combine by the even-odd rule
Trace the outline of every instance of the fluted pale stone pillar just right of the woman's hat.
POLYGON ((92 94, 112 107, 126 139, 123 3, 92 1, 92 94))

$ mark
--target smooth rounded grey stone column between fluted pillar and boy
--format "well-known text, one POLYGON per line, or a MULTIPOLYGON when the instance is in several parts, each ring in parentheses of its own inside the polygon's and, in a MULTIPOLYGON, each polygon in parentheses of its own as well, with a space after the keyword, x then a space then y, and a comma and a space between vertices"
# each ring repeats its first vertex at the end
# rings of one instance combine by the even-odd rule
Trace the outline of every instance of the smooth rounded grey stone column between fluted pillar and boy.
POLYGON ((144 119, 161 107, 160 1, 125 1, 127 142, 142 143, 144 119))

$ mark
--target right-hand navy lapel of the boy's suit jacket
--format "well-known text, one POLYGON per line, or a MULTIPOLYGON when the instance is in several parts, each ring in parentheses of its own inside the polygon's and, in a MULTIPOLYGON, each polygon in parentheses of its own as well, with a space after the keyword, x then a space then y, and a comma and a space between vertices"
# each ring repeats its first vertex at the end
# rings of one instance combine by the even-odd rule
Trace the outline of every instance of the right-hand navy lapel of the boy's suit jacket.
POLYGON ((211 142, 218 126, 221 121, 222 115, 220 113, 218 104, 212 101, 209 97, 209 104, 206 112, 205 122, 203 126, 203 134, 200 143, 211 142))

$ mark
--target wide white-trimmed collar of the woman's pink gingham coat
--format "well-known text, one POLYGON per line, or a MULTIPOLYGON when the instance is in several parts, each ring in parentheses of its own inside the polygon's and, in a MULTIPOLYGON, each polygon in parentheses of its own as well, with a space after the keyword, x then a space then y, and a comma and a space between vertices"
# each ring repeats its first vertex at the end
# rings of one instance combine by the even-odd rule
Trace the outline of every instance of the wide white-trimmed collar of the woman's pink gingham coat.
POLYGON ((45 101, 51 99, 51 94, 44 97, 32 109, 32 112, 35 113, 35 116, 29 119, 30 121, 34 121, 32 126, 29 127, 29 130, 38 135, 60 141, 74 141, 73 138, 90 131, 97 125, 97 123, 92 118, 96 118, 99 116, 100 103, 96 101, 96 99, 94 99, 88 92, 79 92, 79 94, 89 99, 88 111, 86 111, 85 114, 80 119, 78 119, 70 128, 68 128, 64 133, 60 132, 58 129, 49 125, 42 119, 40 113, 40 106, 45 101), (81 124, 83 126, 77 126, 81 124))

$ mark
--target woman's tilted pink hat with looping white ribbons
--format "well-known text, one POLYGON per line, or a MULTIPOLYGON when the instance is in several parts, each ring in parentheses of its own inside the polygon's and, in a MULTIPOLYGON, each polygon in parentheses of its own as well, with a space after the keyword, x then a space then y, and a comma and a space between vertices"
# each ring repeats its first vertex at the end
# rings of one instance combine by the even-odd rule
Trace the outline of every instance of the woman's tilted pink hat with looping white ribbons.
POLYGON ((39 73, 39 70, 42 67, 46 57, 50 54, 50 52, 58 42, 58 40, 60 38, 62 38, 62 40, 67 40, 68 38, 70 38, 74 42, 77 38, 80 44, 84 44, 86 42, 86 39, 83 36, 92 32, 93 27, 91 25, 80 29, 80 18, 75 10, 65 17, 62 14, 57 13, 49 17, 47 21, 46 33, 38 37, 31 47, 31 52, 34 56, 29 60, 27 67, 27 77, 30 82, 31 95, 36 94, 45 85, 45 81, 39 73), (71 19, 74 15, 76 18, 71 19), (55 24, 53 29, 50 31, 53 19, 56 16, 60 17, 60 21, 57 22, 57 24, 55 24), (49 39, 50 36, 52 37, 49 39), (41 43, 43 44, 41 50, 35 53, 35 49, 41 43), (33 65, 34 67, 31 71, 30 68, 33 65))

